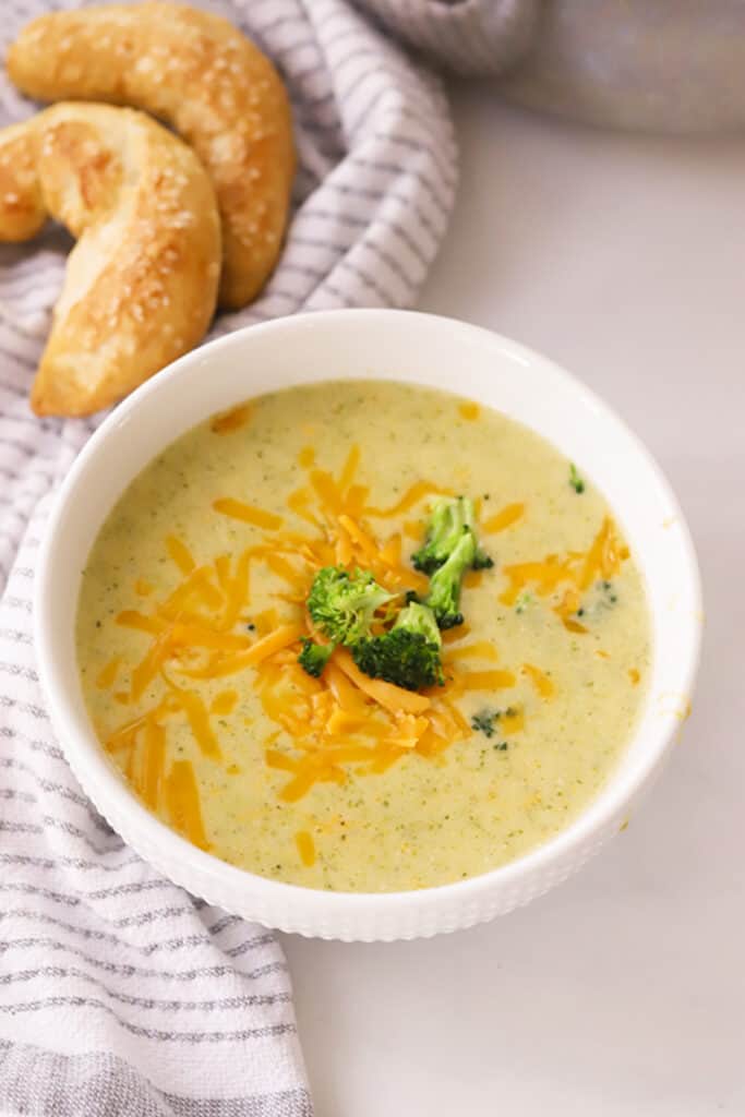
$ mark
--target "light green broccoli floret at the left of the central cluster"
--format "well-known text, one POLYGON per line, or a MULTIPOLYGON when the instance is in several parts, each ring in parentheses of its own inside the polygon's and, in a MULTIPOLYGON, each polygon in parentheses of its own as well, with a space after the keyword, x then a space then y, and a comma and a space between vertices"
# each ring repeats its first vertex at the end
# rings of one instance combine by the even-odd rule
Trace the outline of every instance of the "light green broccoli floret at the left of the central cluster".
POLYGON ((351 645, 370 634, 375 610, 394 596, 366 571, 350 574, 343 566, 324 566, 313 580, 307 607, 324 636, 351 645))

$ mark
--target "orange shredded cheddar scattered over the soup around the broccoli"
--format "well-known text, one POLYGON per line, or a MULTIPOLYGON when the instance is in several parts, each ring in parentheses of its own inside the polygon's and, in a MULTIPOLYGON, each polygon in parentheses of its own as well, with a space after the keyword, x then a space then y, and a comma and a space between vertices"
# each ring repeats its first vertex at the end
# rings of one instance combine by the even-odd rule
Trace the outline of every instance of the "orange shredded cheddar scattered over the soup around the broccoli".
MULTIPOLYGON (((300 451, 299 461, 307 470, 308 484, 290 493, 286 504, 289 514, 309 525, 307 534, 286 527, 285 517, 276 512, 232 497, 216 499, 212 508, 218 515, 269 534, 254 542, 247 536, 243 550, 235 555, 219 554, 211 564, 201 566, 182 541, 169 536, 165 548, 182 575, 181 582, 163 600, 149 602, 146 611, 125 610, 115 618, 117 624, 149 641, 142 660, 130 672, 126 700, 145 699, 159 679, 161 688, 165 686, 165 697, 112 734, 106 747, 123 755, 145 802, 153 808, 163 803, 176 829, 201 848, 207 848, 207 837, 192 763, 178 760, 166 771, 169 719, 185 719, 198 748, 195 755, 219 763, 213 718, 229 716, 240 701, 241 688, 252 687, 276 726, 265 742, 266 766, 285 777, 276 790, 283 802, 290 803, 318 783, 344 784, 352 774, 380 775, 405 756, 442 763, 445 750, 472 732, 458 699, 472 691, 494 693, 517 685, 515 671, 506 668, 465 669, 466 660, 498 660, 490 642, 468 643, 467 624, 443 633, 446 682, 428 694, 370 678, 344 648, 334 650, 321 678, 305 674, 297 657, 305 636, 317 638, 304 612, 316 571, 334 563, 348 569, 359 565, 392 592, 426 589, 427 579, 404 563, 402 534, 379 540, 370 517, 399 516, 427 496, 445 490, 421 480, 391 507, 370 507, 369 489, 356 480, 359 447, 352 447, 338 477, 317 468, 311 447, 300 451), (280 589, 274 594, 276 605, 247 618, 255 563, 262 563, 280 589), (223 678, 235 679, 232 688, 206 700, 199 685, 223 678)), ((523 514, 523 505, 508 505, 485 527, 504 531, 523 514)), ((407 523, 403 533, 408 538, 421 538, 422 528, 419 522, 407 523)), ((536 584, 543 595, 569 583, 566 592, 572 596, 566 598, 565 608, 575 609, 586 579, 596 572, 606 576, 621 557, 612 525, 606 522, 586 555, 548 556, 542 563, 506 567, 508 588, 503 600, 514 600, 528 583, 536 584)), ((470 581, 479 577, 474 574, 470 581)), ((566 619, 571 619, 569 614, 566 619)), ((108 671, 102 672, 102 686, 112 686, 118 670, 120 665, 116 669, 108 665, 108 671)), ((550 696, 553 684, 539 668, 524 665, 522 670, 539 697, 550 696)), ((522 707, 509 707, 500 724, 505 733, 519 732, 525 724, 522 707)), ((300 831, 296 842, 303 862, 311 865, 315 858, 311 834, 300 831)))

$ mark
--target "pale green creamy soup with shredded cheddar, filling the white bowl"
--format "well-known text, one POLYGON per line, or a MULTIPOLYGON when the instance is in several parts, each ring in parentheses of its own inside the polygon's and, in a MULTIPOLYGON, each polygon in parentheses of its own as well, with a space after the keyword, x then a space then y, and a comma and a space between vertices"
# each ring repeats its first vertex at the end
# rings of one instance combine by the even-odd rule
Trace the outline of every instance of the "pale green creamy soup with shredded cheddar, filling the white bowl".
POLYGON ((598 794, 644 695, 642 580, 601 494, 496 411, 398 383, 251 400, 126 489, 83 575, 77 649, 103 747, 164 822, 312 888, 472 877, 598 794), (445 685, 297 663, 319 567, 422 593, 433 494, 475 500, 494 560, 466 575, 445 685))

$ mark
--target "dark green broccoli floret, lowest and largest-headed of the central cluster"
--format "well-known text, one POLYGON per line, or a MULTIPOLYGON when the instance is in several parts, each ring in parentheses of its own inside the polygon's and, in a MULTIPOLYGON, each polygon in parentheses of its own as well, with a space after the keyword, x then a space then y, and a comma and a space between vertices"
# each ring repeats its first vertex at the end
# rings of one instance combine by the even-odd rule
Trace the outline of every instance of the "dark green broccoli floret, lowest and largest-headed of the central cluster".
POLYGON ((352 657, 365 675, 407 690, 422 690, 445 681, 442 639, 431 609, 411 602, 390 632, 363 637, 352 645, 352 657))

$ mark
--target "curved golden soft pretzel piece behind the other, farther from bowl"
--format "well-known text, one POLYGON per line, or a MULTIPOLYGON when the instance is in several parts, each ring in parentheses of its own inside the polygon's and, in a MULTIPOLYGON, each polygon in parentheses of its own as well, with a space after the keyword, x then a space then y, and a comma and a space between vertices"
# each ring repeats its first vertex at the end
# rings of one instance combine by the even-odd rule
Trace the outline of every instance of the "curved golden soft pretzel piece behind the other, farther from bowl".
POLYGON ((281 248, 295 155, 285 88, 249 39, 219 16, 160 0, 84 8, 32 20, 7 65, 37 99, 133 105, 173 125, 217 191, 220 302, 254 298, 281 248))

